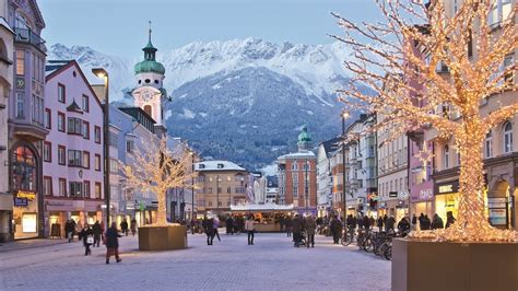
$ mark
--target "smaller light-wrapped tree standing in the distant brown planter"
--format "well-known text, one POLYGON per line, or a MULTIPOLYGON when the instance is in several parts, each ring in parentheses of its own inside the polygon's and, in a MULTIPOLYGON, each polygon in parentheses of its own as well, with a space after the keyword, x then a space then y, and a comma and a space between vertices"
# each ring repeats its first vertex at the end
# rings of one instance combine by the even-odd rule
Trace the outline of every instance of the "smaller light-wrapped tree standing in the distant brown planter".
POLYGON ((157 144, 150 143, 145 150, 136 149, 130 155, 133 163, 122 166, 127 187, 143 193, 154 193, 158 201, 156 224, 167 224, 166 193, 175 187, 190 187, 196 175, 192 172, 192 158, 186 144, 174 149, 167 147, 163 138, 157 144))

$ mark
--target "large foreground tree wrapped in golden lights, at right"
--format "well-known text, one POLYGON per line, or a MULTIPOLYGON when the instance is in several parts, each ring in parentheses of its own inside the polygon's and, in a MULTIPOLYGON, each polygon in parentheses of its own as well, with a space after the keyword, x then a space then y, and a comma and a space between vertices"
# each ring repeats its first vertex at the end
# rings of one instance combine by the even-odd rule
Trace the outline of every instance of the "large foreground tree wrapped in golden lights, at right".
POLYGON ((356 24, 333 13, 344 32, 333 37, 353 50, 344 66, 354 77, 339 91, 341 100, 345 110, 385 116, 369 130, 391 128, 398 137, 426 127, 455 138, 461 164, 457 221, 414 237, 511 241, 515 232, 496 230, 487 221, 482 148, 491 128, 518 113, 516 61, 504 62, 517 49, 516 1, 497 10, 497 1, 464 0, 455 14, 444 1, 420 2, 377 0, 384 15, 377 23, 356 24), (363 86, 375 94, 363 93, 363 86), (496 94, 511 102, 482 115, 480 105, 496 94))

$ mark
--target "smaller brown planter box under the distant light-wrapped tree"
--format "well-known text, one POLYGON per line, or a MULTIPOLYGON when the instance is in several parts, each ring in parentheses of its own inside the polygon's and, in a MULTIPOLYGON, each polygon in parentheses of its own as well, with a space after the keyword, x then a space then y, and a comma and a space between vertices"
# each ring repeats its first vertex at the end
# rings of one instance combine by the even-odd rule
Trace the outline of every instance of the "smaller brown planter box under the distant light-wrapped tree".
POLYGON ((139 228, 140 251, 168 251, 187 248, 185 225, 139 228))

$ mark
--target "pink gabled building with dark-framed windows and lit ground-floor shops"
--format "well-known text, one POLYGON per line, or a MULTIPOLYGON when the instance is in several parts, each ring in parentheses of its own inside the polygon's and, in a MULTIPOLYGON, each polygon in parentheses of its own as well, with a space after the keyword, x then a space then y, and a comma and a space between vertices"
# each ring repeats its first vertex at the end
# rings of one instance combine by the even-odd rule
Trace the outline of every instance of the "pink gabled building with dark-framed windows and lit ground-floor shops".
POLYGON ((64 236, 64 222, 101 222, 103 107, 75 61, 46 66, 43 193, 46 236, 64 236))

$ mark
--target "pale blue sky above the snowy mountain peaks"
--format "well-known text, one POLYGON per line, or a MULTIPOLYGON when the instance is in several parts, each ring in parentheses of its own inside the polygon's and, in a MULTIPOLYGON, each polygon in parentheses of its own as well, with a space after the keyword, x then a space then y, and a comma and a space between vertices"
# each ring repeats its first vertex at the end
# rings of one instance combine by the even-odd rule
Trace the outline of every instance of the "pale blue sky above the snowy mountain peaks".
POLYGON ((330 11, 353 20, 377 16, 373 0, 38 0, 48 45, 85 45, 110 55, 140 56, 152 21, 153 44, 259 37, 272 43, 332 42, 330 11))

